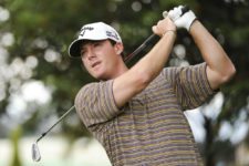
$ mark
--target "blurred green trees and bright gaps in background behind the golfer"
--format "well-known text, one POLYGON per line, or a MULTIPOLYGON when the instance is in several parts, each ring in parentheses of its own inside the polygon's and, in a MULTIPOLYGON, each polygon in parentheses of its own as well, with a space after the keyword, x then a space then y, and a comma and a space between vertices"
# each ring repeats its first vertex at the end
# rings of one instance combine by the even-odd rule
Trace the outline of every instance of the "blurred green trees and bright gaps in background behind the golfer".
MULTIPOLYGON (((247 0, 0 0, 0 166, 110 165, 75 112, 39 142, 42 160, 31 159, 31 144, 73 105, 81 86, 95 81, 68 56, 68 46, 83 24, 104 21, 121 33, 128 54, 162 12, 178 4, 193 9, 237 69, 214 98, 186 112, 205 165, 249 165, 247 0)), ((194 41, 179 30, 166 66, 199 62, 194 41)))

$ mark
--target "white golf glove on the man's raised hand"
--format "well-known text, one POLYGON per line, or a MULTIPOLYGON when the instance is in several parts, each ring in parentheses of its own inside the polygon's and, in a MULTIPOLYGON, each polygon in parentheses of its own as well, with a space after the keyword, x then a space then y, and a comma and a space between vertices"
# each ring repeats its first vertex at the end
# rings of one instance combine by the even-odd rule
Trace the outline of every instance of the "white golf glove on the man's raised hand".
POLYGON ((173 10, 169 10, 169 12, 163 12, 163 15, 164 18, 168 15, 174 21, 177 29, 185 28, 187 31, 189 31, 191 23, 196 19, 196 15, 191 10, 188 10, 183 14, 183 6, 175 7, 173 10))

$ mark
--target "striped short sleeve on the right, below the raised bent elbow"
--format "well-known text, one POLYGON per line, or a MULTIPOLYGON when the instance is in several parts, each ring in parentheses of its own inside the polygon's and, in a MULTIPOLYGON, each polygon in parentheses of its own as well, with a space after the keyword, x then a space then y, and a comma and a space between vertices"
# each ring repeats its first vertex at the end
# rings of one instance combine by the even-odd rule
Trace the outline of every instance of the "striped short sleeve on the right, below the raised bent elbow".
POLYGON ((206 68, 205 62, 186 68, 164 70, 163 73, 173 84, 183 110, 196 108, 214 95, 215 91, 209 85, 206 68))

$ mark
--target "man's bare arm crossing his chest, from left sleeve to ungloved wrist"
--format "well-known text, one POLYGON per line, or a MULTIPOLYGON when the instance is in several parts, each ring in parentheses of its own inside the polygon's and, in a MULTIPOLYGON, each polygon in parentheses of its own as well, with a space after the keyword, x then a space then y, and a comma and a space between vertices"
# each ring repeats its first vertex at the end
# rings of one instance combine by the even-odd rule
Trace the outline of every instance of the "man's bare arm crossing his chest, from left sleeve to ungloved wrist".
POLYGON ((168 31, 131 70, 114 80, 113 93, 118 107, 142 92, 159 74, 168 60, 175 38, 175 32, 168 31))

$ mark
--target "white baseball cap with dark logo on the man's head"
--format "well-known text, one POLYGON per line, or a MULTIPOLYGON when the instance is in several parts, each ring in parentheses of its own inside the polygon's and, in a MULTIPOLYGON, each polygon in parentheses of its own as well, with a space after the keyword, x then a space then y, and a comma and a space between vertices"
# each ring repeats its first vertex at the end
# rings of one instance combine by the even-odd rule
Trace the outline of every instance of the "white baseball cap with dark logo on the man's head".
POLYGON ((105 40, 111 39, 113 41, 122 43, 120 34, 114 28, 104 23, 95 22, 89 23, 82 27, 81 32, 76 40, 74 40, 69 46, 69 55, 71 58, 81 56, 81 43, 83 40, 105 40))

